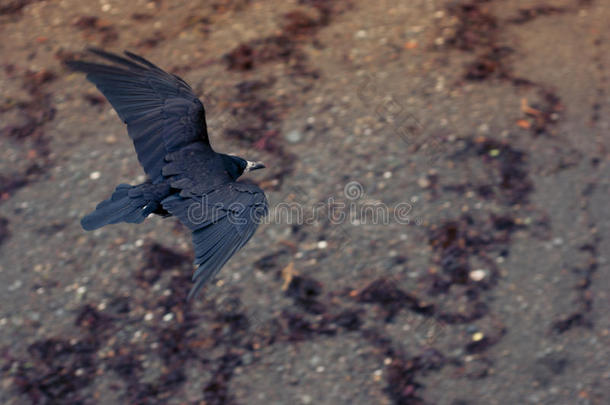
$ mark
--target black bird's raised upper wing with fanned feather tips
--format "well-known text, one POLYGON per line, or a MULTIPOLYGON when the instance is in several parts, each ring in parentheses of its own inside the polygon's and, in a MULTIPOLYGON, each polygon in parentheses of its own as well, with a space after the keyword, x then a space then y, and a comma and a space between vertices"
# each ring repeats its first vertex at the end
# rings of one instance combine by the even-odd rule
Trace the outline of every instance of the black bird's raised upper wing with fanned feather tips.
POLYGON ((166 154, 193 142, 210 147, 205 110, 184 80, 131 52, 125 52, 127 59, 99 49, 89 51, 111 64, 67 61, 66 65, 86 73, 127 124, 138 160, 151 179, 161 174, 166 154))

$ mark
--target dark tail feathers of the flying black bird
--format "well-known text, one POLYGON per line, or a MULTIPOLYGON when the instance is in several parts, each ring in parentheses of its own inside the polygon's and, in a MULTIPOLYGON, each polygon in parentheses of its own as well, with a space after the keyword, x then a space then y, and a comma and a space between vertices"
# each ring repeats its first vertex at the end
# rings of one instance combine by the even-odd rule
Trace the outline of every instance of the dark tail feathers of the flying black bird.
POLYGON ((109 199, 99 203, 95 211, 81 220, 82 227, 92 231, 119 222, 139 224, 144 221, 159 207, 159 203, 147 199, 142 186, 144 184, 137 186, 119 184, 109 199))

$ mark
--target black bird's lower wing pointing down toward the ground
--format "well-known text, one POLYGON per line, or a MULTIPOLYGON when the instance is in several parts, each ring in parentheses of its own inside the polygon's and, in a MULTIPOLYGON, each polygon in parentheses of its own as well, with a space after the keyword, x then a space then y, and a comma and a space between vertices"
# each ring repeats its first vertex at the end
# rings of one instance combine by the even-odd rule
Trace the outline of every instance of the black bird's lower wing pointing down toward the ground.
POLYGON ((267 215, 267 199, 253 184, 226 183, 200 197, 172 195, 162 202, 193 232, 195 285, 193 297, 254 235, 267 215))

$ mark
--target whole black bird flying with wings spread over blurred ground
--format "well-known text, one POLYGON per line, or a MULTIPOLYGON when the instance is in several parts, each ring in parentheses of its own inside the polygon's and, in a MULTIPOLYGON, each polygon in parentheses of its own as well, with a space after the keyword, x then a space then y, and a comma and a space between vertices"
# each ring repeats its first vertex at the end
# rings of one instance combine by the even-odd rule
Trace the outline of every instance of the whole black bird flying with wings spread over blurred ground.
POLYGON ((212 149, 205 110, 188 84, 151 62, 89 49, 106 63, 67 61, 71 70, 104 94, 127 124, 147 181, 120 184, 81 224, 93 230, 118 222, 140 223, 150 214, 174 215, 193 233, 195 285, 188 298, 254 235, 267 215, 267 199, 256 185, 237 181, 262 169, 260 162, 212 149))

